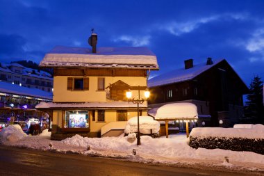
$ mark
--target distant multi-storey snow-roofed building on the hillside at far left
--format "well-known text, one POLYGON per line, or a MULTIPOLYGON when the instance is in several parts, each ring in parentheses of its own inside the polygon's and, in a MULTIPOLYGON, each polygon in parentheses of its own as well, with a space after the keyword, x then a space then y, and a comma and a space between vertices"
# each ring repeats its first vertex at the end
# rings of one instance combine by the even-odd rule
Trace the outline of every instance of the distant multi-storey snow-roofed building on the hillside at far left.
POLYGON ((53 78, 48 72, 24 67, 19 63, 0 63, 0 80, 27 88, 52 92, 53 78))

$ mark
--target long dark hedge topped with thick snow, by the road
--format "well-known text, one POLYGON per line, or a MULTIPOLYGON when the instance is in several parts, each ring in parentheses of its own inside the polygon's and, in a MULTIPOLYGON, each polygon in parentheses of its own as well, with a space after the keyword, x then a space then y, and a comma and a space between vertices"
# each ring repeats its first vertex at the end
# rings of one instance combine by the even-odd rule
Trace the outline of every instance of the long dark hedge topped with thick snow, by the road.
POLYGON ((190 146, 264 154, 264 126, 253 125, 251 128, 195 128, 190 133, 190 146))

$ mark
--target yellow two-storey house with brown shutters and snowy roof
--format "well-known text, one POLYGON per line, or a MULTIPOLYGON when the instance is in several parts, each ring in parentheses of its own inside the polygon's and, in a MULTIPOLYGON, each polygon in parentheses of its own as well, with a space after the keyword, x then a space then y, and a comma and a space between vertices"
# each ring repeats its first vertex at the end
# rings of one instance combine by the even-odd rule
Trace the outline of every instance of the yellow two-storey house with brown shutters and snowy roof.
MULTIPOLYGON (((126 91, 136 98, 140 90, 144 97, 149 70, 158 70, 155 54, 146 47, 97 48, 96 33, 90 45, 92 49, 55 47, 40 62, 40 67, 54 71, 53 102, 37 106, 51 112, 51 139, 103 136, 124 126, 138 113, 137 104, 126 99, 126 91)), ((147 102, 139 109, 140 115, 147 115, 147 102)))

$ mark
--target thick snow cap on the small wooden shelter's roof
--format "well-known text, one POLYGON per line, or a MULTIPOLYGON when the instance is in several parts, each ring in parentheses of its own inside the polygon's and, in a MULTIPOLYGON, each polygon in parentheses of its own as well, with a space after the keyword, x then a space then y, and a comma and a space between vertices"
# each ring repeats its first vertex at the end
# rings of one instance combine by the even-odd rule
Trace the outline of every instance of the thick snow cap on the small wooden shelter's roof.
POLYGON ((155 119, 195 119, 198 118, 197 106, 192 103, 172 103, 161 106, 155 119))

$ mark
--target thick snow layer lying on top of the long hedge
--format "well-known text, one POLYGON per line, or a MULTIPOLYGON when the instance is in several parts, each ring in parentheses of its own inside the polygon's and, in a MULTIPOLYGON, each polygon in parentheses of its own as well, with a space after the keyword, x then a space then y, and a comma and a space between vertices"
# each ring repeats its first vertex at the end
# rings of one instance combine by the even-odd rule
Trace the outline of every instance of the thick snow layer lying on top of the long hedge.
POLYGON ((193 138, 225 137, 264 139, 264 125, 254 125, 252 128, 194 128, 192 129, 190 136, 192 136, 193 138))

